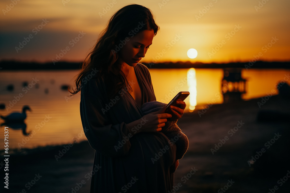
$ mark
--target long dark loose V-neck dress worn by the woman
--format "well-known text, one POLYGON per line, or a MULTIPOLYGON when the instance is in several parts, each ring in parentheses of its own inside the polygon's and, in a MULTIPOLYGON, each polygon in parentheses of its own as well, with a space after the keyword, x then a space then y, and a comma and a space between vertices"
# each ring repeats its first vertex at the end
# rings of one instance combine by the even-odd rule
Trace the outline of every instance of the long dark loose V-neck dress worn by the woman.
MULTIPOLYGON (((156 100, 148 68, 137 63, 134 70, 142 104, 156 100)), ((128 135, 127 124, 144 115, 128 91, 109 99, 106 89, 104 80, 96 77, 81 88, 81 122, 96 150, 90 192, 171 192, 174 173, 169 168, 175 162, 176 145, 162 132, 128 135), (113 106, 114 100, 119 103, 113 106)))

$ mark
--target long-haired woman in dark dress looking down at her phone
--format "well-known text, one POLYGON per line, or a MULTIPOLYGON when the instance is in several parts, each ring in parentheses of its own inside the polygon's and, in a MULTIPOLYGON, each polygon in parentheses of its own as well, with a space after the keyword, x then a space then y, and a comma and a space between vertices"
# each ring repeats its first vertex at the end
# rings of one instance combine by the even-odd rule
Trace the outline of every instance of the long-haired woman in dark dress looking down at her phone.
POLYGON ((156 100, 149 70, 138 62, 158 30, 148 8, 133 4, 118 10, 70 92, 81 91, 81 122, 96 150, 90 192, 172 190, 176 145, 160 131, 167 119, 179 119, 186 105, 173 106, 172 115, 165 107, 147 115, 140 109, 156 100))

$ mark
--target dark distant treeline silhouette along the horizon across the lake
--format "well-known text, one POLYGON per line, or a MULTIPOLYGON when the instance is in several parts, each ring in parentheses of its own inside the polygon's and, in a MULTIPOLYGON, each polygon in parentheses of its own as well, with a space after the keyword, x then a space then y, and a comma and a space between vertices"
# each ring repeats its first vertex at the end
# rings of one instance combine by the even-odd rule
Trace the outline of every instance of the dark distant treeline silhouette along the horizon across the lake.
MULTIPOLYGON (((150 68, 245 68, 245 69, 263 69, 263 68, 282 68, 289 69, 290 62, 264 62, 257 61, 255 63, 191 63, 187 62, 165 62, 165 63, 143 63, 150 68)), ((62 69, 81 69, 82 62, 58 62, 54 65, 49 63, 37 62, 21 62, 15 60, 0 61, 0 71, 2 70, 62 70, 62 69)))

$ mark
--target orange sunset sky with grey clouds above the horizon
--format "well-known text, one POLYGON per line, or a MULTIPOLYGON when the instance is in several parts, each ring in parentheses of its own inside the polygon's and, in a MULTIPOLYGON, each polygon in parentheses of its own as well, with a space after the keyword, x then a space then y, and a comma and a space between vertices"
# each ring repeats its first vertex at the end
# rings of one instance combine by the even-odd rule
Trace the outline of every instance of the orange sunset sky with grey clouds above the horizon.
POLYGON ((82 61, 108 19, 130 3, 150 8, 160 26, 141 62, 290 60, 288 0, 1 0, 0 60, 51 62, 68 47, 61 60, 82 61), (190 48, 197 58, 187 57, 190 48))

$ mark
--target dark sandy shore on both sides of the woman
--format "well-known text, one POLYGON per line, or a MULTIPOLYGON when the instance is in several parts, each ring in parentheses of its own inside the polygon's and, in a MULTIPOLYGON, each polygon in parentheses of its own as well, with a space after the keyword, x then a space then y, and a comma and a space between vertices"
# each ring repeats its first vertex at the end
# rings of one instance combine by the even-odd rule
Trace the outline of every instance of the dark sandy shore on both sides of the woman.
MULTIPOLYGON (((272 96, 260 108, 258 102, 261 99, 213 105, 202 115, 197 111, 185 113, 178 120, 189 139, 189 149, 175 172, 176 192, 289 192, 289 121, 287 117, 277 120, 281 116, 269 121, 277 112, 290 113, 290 100, 272 96), (266 113, 262 117, 269 117, 258 121, 257 115, 263 110, 274 114, 266 113), (215 144, 220 147, 213 152, 215 144), (262 148, 265 151, 257 155, 262 148), (248 162, 252 156, 258 159, 248 162), (192 168, 196 169, 193 175, 192 168)), ((37 148, 28 150, 26 155, 11 155, 9 192, 89 192, 88 173, 93 167, 94 150, 83 141, 70 147, 57 161, 55 155, 63 148, 37 148), (83 185, 78 188, 77 183, 81 182, 83 185)))

